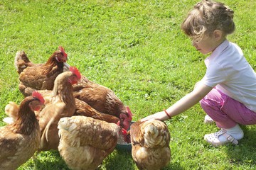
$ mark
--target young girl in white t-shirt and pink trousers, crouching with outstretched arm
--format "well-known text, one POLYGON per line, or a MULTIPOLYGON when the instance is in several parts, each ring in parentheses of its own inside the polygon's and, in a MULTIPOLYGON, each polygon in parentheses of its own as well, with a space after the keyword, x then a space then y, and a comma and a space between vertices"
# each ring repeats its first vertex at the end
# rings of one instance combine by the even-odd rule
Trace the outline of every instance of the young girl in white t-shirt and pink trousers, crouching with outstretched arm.
POLYGON ((192 40, 196 50, 206 58, 206 74, 193 91, 164 111, 149 119, 167 120, 183 113, 200 101, 207 113, 205 123, 216 123, 220 131, 204 139, 217 147, 242 139, 240 125, 256 124, 256 74, 238 45, 226 37, 235 30, 233 14, 222 3, 203 0, 194 6, 181 29, 192 40))

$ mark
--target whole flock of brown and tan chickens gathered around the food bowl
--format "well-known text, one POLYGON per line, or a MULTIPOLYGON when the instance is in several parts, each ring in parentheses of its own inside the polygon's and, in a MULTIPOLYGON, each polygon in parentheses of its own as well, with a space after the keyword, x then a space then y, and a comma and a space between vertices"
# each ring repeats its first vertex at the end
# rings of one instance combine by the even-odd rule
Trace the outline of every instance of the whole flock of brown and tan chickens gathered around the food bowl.
POLYGON ((67 60, 63 47, 44 64, 34 64, 25 52, 17 52, 14 64, 24 98, 19 105, 6 105, 9 117, 0 127, 0 169, 17 169, 36 152, 50 149, 58 150, 70 169, 97 169, 120 138, 132 143, 139 169, 166 166, 171 157, 166 124, 137 121, 129 127, 129 107, 67 60))

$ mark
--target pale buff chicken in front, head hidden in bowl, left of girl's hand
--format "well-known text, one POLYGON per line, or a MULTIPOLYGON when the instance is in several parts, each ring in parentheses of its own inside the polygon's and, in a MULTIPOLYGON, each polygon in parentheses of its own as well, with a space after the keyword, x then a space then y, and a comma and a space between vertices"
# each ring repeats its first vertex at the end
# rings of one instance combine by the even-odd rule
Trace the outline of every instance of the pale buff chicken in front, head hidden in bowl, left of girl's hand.
POLYGON ((73 170, 94 170, 114 150, 119 126, 77 115, 58 123, 60 156, 73 170))

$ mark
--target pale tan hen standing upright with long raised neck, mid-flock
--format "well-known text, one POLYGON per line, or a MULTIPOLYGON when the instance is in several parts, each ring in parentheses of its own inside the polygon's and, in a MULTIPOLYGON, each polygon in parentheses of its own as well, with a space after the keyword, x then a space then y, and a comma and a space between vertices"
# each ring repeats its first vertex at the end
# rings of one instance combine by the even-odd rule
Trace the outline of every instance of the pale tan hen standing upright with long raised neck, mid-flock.
POLYGON ((39 91, 46 100, 46 107, 36 112, 41 129, 41 145, 39 151, 58 149, 58 121, 75 113, 75 98, 72 84, 80 79, 77 68, 70 67, 70 72, 63 72, 54 81, 53 91, 39 91))

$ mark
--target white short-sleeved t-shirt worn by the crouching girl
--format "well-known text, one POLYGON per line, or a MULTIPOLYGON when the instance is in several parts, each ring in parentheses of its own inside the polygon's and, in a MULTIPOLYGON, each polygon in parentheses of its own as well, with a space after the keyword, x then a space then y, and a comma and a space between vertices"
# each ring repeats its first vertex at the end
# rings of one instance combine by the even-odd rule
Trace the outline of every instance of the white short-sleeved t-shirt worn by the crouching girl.
POLYGON ((256 74, 238 45, 225 40, 206 58, 203 84, 219 89, 256 112, 256 74))

